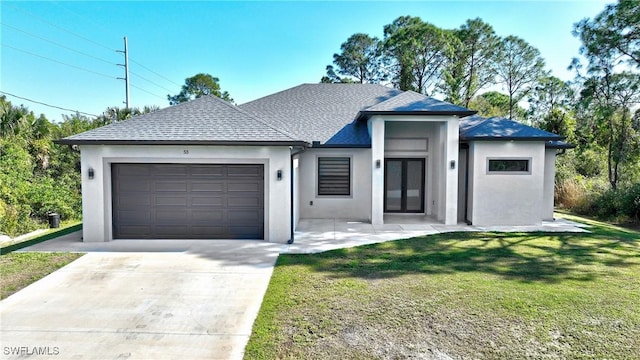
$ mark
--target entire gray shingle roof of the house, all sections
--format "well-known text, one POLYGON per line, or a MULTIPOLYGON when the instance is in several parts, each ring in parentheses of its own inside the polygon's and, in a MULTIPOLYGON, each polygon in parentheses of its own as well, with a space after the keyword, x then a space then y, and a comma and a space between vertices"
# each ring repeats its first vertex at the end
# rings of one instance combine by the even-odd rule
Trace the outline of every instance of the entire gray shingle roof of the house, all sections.
POLYGON ((377 84, 303 84, 240 106, 201 97, 57 142, 303 145, 320 141, 327 146, 368 146, 366 122, 358 119, 388 113, 466 116, 460 120, 461 140, 562 140, 512 120, 472 115, 474 111, 413 91, 377 84))

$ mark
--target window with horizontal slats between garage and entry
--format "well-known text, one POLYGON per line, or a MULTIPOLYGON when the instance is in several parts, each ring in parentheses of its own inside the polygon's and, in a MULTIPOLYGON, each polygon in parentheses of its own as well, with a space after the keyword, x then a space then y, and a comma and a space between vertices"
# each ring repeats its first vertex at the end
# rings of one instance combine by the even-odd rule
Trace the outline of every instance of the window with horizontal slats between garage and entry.
POLYGON ((318 195, 351 195, 351 158, 318 158, 318 195))

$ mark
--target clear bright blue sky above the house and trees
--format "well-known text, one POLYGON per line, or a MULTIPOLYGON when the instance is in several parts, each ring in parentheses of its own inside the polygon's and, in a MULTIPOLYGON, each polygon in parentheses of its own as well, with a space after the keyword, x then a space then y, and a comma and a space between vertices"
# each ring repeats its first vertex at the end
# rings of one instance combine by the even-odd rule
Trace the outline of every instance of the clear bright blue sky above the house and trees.
MULTIPOLYGON (((350 35, 382 38, 384 25, 402 15, 442 28, 480 17, 498 35, 537 47, 552 73, 569 80, 580 46, 573 24, 609 2, 3 0, 0 90, 91 114, 124 107, 124 82, 116 79, 124 60, 115 50, 127 36, 132 106, 168 106, 166 95, 199 72, 218 77, 240 104, 318 82, 350 35)), ((8 98, 54 121, 69 113, 8 98)))

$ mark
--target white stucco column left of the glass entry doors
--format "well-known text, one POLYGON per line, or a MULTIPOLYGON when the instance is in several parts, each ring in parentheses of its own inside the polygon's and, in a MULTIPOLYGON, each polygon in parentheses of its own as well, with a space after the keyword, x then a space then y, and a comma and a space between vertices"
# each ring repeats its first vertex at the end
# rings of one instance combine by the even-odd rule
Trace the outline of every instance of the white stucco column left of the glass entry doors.
POLYGON ((369 120, 371 136, 371 224, 384 224, 384 120, 369 120), (377 162, 380 161, 380 167, 377 162))

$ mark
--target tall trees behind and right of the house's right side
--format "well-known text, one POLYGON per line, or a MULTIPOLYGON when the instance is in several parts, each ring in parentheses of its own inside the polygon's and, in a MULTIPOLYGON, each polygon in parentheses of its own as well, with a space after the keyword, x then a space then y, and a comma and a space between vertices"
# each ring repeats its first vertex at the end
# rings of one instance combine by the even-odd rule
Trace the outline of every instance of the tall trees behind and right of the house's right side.
POLYGON ((640 221, 640 2, 574 24, 582 45, 567 64, 570 81, 551 75, 527 41, 500 37, 480 18, 442 29, 401 16, 383 34, 350 36, 320 82, 390 85, 565 136, 576 148, 558 158, 557 202, 640 221))

